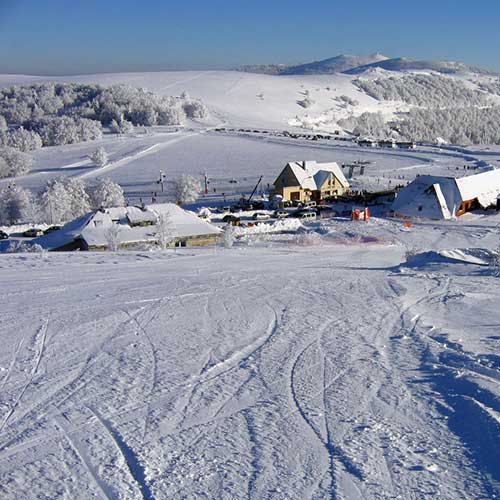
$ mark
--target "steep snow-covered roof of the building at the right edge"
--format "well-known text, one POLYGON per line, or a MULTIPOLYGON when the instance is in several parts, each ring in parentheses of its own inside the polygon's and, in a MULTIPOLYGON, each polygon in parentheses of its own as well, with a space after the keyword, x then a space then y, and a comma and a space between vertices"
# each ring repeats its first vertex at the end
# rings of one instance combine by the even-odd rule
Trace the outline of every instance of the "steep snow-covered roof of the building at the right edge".
POLYGON ((449 219, 464 201, 477 200, 486 208, 496 203, 500 193, 500 170, 468 177, 421 175, 403 188, 392 204, 402 215, 449 219))

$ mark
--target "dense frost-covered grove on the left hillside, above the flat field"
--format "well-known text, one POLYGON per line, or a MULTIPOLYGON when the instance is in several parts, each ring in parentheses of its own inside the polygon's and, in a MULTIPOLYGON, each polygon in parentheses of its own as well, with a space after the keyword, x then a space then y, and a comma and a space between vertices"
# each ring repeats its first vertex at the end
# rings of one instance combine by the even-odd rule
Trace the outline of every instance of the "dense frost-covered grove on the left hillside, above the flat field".
POLYGON ((33 151, 125 134, 135 125, 181 125, 208 116, 187 93, 163 97, 128 85, 42 83, 0 89, 0 145, 33 151))

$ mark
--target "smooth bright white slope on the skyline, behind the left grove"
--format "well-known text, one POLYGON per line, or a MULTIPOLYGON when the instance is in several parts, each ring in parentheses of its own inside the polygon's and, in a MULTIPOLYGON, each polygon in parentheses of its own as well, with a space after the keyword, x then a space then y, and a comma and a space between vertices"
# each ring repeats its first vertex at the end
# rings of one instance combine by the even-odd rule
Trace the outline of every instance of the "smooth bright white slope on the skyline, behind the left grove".
MULTIPOLYGON (((0 85, 33 83, 35 81, 129 84, 144 87, 161 95, 189 95, 200 98, 212 112, 212 122, 248 127, 289 128, 299 117, 334 114, 337 119, 365 111, 408 109, 401 103, 383 103, 361 92, 352 83, 353 77, 335 75, 270 76, 238 71, 179 71, 155 73, 114 73, 71 77, 0 76, 0 85), (309 97, 308 107, 303 106, 309 97), (356 105, 342 100, 346 96, 356 105)), ((338 127, 334 127, 338 128, 338 127)))

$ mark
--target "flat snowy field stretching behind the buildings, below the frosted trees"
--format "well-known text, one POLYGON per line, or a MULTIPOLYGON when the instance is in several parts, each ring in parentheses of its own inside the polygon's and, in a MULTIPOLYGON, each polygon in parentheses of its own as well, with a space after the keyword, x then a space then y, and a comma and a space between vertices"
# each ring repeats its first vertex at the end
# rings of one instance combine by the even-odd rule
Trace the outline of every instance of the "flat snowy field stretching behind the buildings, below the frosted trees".
MULTIPOLYGON (((263 186, 272 185, 289 161, 314 159, 339 164, 368 162, 365 174, 359 169, 350 180, 354 189, 383 190, 406 184, 416 175, 469 175, 475 167, 500 166, 500 148, 437 148, 421 146, 417 150, 362 148, 346 141, 310 141, 272 136, 259 132, 214 132, 211 127, 158 130, 131 136, 110 135, 99 141, 46 147, 34 151, 30 174, 15 179, 16 184, 42 191, 49 179, 78 177, 92 184, 99 178, 118 182, 131 202, 159 192, 160 170, 170 182, 182 174, 200 181, 207 173, 210 190, 216 188, 238 198, 252 191, 260 175, 263 186), (109 156, 109 164, 96 168, 88 158, 98 146, 109 156), (470 170, 464 170, 467 166, 470 170), (458 170, 457 170, 458 168, 458 170), (234 182, 236 181, 236 182, 234 182)), ((347 169, 345 170, 347 175, 347 169)), ((0 180, 0 188, 12 179, 0 180)), ((161 193, 158 193, 163 198, 161 193)), ((169 199, 167 193, 165 199, 169 199)))

